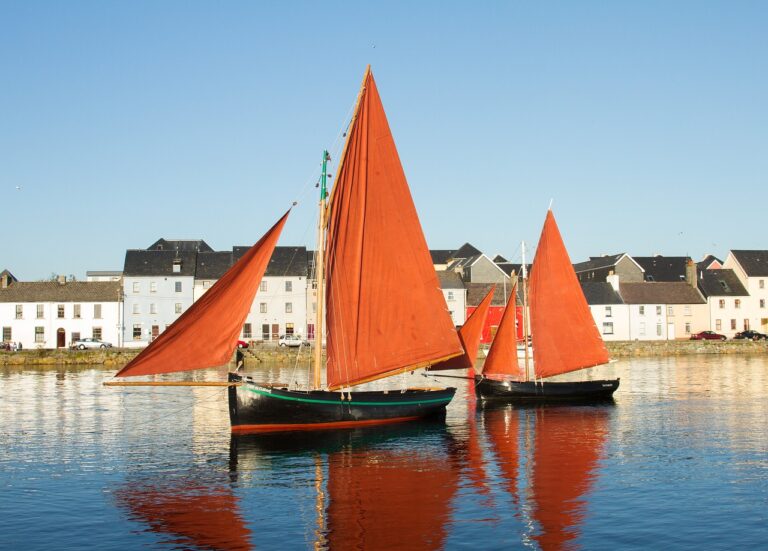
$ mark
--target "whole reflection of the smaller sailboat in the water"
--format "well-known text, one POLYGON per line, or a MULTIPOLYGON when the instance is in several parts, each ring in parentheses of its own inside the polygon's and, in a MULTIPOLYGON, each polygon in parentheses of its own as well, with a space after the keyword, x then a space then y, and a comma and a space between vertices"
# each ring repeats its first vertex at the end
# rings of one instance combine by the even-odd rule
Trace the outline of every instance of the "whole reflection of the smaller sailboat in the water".
POLYGON ((515 514, 528 526, 521 539, 544 550, 574 549, 598 475, 613 404, 515 407, 486 405, 486 469, 495 464, 515 514))

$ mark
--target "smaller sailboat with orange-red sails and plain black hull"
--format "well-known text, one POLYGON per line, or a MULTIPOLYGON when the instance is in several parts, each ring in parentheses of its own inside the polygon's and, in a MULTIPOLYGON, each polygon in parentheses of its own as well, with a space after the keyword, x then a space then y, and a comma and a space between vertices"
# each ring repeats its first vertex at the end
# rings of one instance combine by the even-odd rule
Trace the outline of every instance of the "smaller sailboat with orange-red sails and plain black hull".
MULTIPOLYGON (((523 260, 523 269, 525 260, 523 260)), ((515 308, 507 306, 476 390, 485 400, 557 401, 610 399, 619 379, 543 379, 608 363, 608 351, 595 326, 552 211, 547 211, 531 268, 530 328, 523 279, 523 334, 531 335, 533 358, 517 358, 515 308), (510 311, 512 312, 510 314, 510 311)), ((512 292, 512 297, 516 293, 512 292)), ((512 303, 514 305, 514 302, 512 303)))

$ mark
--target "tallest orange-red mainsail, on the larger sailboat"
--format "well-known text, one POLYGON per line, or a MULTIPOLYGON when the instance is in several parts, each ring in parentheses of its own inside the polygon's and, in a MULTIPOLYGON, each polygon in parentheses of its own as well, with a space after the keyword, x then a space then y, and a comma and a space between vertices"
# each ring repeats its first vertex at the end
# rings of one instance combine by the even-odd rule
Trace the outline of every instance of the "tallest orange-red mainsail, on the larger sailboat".
POLYGON ((461 343, 370 71, 328 214, 329 389, 460 355, 461 343))

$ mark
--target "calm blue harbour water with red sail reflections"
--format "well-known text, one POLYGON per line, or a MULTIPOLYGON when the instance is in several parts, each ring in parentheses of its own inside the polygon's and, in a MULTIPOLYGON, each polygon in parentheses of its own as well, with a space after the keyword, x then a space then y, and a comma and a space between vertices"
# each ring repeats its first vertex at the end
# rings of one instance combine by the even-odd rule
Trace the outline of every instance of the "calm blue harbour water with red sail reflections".
POLYGON ((606 369, 611 405, 441 379, 445 422, 234 438, 219 388, 0 368, 0 549, 764 548, 768 359, 606 369))

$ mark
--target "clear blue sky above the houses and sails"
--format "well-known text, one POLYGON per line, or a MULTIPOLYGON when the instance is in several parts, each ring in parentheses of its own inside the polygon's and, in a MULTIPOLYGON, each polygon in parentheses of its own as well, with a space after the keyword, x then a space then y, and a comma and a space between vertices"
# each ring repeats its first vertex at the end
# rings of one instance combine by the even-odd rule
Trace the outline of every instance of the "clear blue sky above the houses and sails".
POLYGON ((314 246, 369 63, 430 248, 768 249, 768 2, 0 0, 0 270, 314 246))

